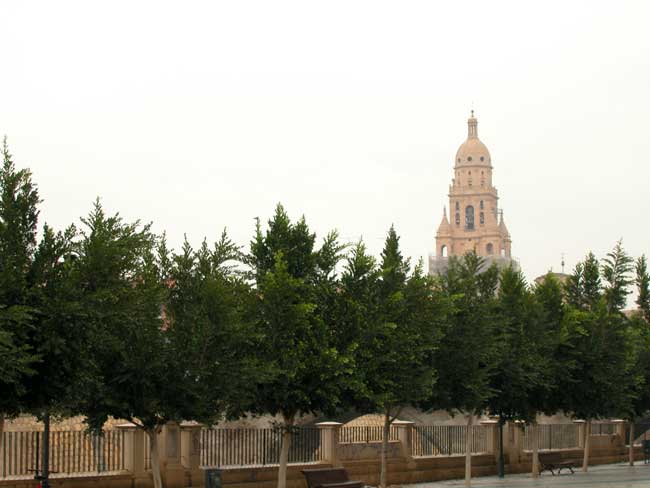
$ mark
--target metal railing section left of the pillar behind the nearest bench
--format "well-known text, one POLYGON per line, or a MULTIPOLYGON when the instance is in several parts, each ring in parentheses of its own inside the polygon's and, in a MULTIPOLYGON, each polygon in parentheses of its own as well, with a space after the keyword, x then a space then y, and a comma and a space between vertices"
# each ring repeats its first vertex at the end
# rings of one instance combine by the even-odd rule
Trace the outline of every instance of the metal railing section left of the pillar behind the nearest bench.
MULTIPOLYGON (((280 462, 282 431, 279 429, 201 430, 201 466, 267 466, 280 462)), ((314 427, 294 429, 289 463, 313 463, 322 460, 321 430, 314 427)))

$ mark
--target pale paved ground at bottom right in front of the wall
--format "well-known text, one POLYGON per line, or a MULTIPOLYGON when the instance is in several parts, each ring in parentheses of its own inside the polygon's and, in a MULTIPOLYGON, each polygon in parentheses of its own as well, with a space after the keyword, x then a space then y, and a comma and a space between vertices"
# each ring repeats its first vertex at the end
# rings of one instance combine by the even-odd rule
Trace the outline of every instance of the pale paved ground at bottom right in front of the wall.
MULTIPOLYGON (((418 483, 415 485, 404 485, 408 488, 462 488, 464 480, 437 481, 435 483, 418 483)), ((472 486, 476 488, 628 488, 648 487, 650 488, 650 464, 608 464, 604 466, 590 466, 587 473, 579 469, 575 474, 562 471, 559 476, 551 476, 544 472, 542 476, 534 480, 530 474, 510 474, 503 479, 496 476, 473 478, 472 486)))

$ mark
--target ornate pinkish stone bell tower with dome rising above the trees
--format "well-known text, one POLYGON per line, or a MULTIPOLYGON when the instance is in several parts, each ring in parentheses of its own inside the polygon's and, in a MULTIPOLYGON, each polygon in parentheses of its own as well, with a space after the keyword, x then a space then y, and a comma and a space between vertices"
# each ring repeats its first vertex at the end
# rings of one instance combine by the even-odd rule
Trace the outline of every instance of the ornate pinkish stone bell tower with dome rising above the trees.
POLYGON ((492 185, 492 158, 478 138, 478 121, 472 110, 467 120, 467 140, 454 159, 454 178, 449 185, 447 207, 436 233, 436 252, 429 259, 434 274, 447 267, 449 256, 475 251, 488 263, 507 266, 512 262, 510 233, 492 185))

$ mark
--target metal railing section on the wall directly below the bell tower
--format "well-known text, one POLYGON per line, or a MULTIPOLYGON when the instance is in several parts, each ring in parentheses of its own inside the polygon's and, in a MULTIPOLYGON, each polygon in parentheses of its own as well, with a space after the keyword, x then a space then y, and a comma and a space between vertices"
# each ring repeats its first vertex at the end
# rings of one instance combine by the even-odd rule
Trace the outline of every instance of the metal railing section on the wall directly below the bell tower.
MULTIPOLYGON (((452 456, 465 454, 466 425, 415 425, 412 450, 414 456, 452 456)), ((491 427, 472 426, 472 454, 488 452, 491 427)))

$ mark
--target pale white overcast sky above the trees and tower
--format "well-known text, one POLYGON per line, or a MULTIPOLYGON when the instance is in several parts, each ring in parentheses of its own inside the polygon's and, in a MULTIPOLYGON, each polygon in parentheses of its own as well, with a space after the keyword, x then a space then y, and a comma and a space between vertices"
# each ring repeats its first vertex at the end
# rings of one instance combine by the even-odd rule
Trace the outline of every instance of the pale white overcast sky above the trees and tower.
POLYGON ((434 251, 474 107, 529 278, 650 253, 650 2, 0 2, 0 134, 42 220, 241 244, 277 202, 434 251))

